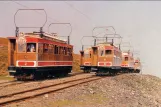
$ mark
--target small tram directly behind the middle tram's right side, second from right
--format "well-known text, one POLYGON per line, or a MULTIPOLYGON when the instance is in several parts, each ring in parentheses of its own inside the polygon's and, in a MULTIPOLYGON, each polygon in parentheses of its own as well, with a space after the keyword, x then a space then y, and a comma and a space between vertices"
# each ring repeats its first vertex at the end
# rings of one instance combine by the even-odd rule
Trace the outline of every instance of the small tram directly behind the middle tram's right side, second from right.
POLYGON ((123 73, 134 72, 134 57, 133 53, 130 51, 122 52, 121 72, 123 73))

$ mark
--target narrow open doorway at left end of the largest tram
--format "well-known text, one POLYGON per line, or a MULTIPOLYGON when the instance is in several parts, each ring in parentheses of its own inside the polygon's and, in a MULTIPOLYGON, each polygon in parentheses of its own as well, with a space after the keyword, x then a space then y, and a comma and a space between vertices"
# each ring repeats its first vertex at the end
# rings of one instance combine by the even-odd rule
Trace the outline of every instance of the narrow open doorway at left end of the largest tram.
POLYGON ((16 65, 16 58, 15 58, 15 53, 16 53, 16 39, 10 39, 10 66, 15 66, 16 65))

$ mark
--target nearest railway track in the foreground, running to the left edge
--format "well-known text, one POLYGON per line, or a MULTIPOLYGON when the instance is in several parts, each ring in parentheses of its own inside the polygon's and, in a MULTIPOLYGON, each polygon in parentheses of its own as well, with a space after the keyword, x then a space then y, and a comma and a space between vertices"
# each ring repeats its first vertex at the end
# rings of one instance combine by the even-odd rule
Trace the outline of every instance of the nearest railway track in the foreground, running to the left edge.
POLYGON ((41 96, 47 93, 52 93, 52 92, 56 92, 59 90, 67 89, 69 87, 73 87, 73 86, 87 83, 90 81, 95 81, 101 78, 103 77, 90 76, 86 78, 73 79, 73 80, 69 80, 65 82, 60 82, 57 84, 46 85, 46 86, 39 87, 39 88, 34 88, 30 90, 25 90, 25 91, 3 95, 3 96, 0 96, 0 105, 2 106, 2 105, 8 105, 14 102, 20 102, 26 99, 31 99, 31 98, 41 96))

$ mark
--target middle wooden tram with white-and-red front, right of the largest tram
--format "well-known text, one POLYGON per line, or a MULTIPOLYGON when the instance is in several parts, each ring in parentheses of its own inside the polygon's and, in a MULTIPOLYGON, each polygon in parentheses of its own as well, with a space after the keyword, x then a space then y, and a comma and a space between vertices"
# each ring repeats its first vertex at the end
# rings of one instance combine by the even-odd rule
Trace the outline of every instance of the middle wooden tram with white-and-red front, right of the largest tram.
POLYGON ((100 43, 93 49, 92 71, 96 75, 115 75, 121 70, 121 50, 113 43, 100 43))

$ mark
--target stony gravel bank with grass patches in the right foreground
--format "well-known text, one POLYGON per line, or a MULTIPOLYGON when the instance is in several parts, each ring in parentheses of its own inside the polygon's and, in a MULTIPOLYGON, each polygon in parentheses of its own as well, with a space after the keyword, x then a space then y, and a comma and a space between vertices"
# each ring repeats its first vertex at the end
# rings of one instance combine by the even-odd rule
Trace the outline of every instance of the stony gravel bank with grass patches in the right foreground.
POLYGON ((123 74, 4 107, 161 107, 161 79, 123 74))

